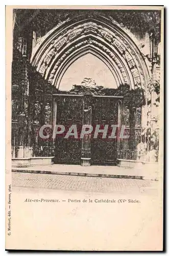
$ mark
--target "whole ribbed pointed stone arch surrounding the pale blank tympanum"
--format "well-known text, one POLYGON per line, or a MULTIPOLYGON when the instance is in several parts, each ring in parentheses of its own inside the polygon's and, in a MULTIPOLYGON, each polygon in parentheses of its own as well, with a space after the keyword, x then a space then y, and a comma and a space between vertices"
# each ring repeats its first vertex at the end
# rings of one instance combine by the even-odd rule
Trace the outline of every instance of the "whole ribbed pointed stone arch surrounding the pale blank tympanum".
POLYGON ((118 86, 127 83, 131 89, 145 88, 145 77, 149 75, 146 62, 135 43, 116 24, 111 22, 108 26, 92 18, 66 24, 49 35, 32 58, 32 65, 52 85, 59 88, 69 62, 90 51, 104 58, 118 86))

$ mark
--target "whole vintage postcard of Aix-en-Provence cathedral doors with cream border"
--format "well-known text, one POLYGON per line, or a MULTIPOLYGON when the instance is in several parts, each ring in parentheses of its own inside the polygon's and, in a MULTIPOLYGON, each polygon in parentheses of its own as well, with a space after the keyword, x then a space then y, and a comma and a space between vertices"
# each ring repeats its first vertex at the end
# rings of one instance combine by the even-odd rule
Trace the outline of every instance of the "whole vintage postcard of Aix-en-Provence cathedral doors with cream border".
POLYGON ((6 249, 163 250, 163 6, 6 6, 6 249))

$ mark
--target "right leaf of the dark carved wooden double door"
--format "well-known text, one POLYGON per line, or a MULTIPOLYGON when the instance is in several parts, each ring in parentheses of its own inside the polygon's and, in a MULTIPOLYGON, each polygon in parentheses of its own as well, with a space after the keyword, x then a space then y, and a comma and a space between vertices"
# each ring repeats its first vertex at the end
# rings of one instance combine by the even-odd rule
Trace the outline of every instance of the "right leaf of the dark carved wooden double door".
MULTIPOLYGON (((102 138, 103 133, 99 133, 97 138, 91 141, 92 164, 116 165, 117 139, 108 138, 111 135, 111 125, 117 125, 118 122, 118 98, 93 97, 92 104, 92 125, 100 125, 104 129, 108 125, 106 138, 102 138)), ((116 129, 117 130, 117 129, 116 129)), ((117 132, 116 134, 117 135, 117 132)), ((93 136, 92 136, 93 137, 93 136)))

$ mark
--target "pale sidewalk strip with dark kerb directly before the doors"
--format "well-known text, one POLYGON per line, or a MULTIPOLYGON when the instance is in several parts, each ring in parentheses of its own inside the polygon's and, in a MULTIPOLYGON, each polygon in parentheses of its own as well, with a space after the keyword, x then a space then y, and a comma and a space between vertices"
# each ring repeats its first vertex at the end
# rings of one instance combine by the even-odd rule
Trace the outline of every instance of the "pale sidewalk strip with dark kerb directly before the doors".
POLYGON ((158 174, 152 173, 152 169, 140 168, 122 168, 118 166, 81 166, 81 165, 38 165, 30 167, 13 167, 12 172, 34 173, 34 174, 57 174, 74 175, 87 177, 105 177, 105 178, 125 178, 125 179, 144 179, 158 180, 158 174))

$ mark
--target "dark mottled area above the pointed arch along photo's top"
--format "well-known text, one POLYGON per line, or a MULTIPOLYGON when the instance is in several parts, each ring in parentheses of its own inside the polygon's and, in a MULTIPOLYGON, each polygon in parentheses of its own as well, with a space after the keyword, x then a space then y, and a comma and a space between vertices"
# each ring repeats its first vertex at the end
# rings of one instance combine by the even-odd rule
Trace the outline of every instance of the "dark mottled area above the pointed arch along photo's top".
POLYGON ((160 11, 158 10, 56 10, 56 9, 17 9, 15 27, 18 30, 41 31, 41 36, 68 18, 82 14, 99 13, 110 17, 118 24, 127 27, 132 33, 154 31, 155 41, 160 42, 160 11))

